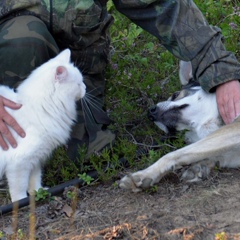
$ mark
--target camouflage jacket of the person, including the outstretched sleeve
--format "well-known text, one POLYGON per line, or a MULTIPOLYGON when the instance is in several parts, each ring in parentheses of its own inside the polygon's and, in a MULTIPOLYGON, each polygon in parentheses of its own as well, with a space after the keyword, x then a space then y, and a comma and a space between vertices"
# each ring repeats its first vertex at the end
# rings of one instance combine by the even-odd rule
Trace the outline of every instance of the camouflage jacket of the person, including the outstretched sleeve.
MULTIPOLYGON (((107 0, 1 0, 0 22, 33 14, 72 47, 90 46, 112 22, 107 0)), ((226 51, 220 29, 210 26, 192 0, 113 0, 116 8, 157 37, 177 58, 191 61, 206 91, 240 79, 240 64, 226 51)))

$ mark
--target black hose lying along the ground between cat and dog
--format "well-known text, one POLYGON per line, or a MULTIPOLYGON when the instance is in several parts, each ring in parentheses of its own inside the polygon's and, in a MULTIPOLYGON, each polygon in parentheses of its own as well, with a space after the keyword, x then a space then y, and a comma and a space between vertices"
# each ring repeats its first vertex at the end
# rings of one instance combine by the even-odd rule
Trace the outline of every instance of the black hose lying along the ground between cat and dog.
MULTIPOLYGON (((121 164, 121 166, 128 165, 127 160, 125 158, 119 159, 119 163, 121 164)), ((111 168, 111 166, 107 167, 107 168, 111 168)), ((87 175, 92 177, 94 180, 96 180, 98 178, 98 172, 97 171, 88 172, 87 175)), ((69 180, 67 182, 61 183, 61 184, 59 184, 57 186, 51 187, 47 191, 51 194, 51 196, 54 196, 54 195, 58 195, 58 194, 62 193, 66 187, 69 187, 69 186, 78 186, 78 187, 80 187, 84 183, 85 182, 84 182, 83 179, 75 178, 75 179, 69 180)), ((22 208, 22 207, 28 206, 29 203, 30 203, 30 197, 23 198, 23 199, 18 201, 18 203, 17 203, 18 204, 18 208, 22 208)), ((12 212, 13 209, 14 209, 14 204, 15 203, 10 203, 10 204, 1 206, 0 207, 0 215, 12 212)))

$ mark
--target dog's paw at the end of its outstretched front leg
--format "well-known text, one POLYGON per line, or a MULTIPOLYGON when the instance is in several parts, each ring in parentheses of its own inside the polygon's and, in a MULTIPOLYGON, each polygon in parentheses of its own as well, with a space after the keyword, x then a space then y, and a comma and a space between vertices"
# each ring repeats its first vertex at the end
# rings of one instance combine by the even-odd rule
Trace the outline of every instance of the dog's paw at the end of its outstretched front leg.
POLYGON ((119 187, 132 192, 140 192, 143 189, 151 187, 155 180, 151 177, 145 176, 141 172, 126 175, 119 182, 119 187))

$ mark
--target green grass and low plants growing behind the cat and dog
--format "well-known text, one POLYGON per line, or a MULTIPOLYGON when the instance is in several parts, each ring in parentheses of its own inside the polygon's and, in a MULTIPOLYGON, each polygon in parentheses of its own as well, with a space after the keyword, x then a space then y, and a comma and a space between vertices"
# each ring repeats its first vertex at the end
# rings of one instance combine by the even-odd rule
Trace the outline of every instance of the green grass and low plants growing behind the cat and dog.
MULTIPOLYGON (((240 4, 237 0, 196 0, 207 20, 218 25, 225 37, 226 48, 240 57, 240 4)), ((181 135, 177 140, 164 139, 164 134, 147 118, 147 109, 154 103, 165 100, 180 88, 178 59, 164 49, 156 38, 131 23, 108 2, 109 12, 115 18, 111 27, 112 57, 106 75, 105 106, 113 124, 109 129, 116 133, 116 143, 102 154, 84 160, 80 167, 66 157, 64 149, 58 149, 47 165, 44 182, 53 186, 75 178, 79 173, 96 169, 102 180, 117 176, 118 159, 125 157, 131 169, 146 167, 159 157, 184 145, 181 135), (154 150, 153 145, 160 145, 154 150), (169 147, 172 145, 172 147, 169 147), (148 156, 139 158, 137 149, 148 156), (106 165, 111 169, 103 171, 106 165)))

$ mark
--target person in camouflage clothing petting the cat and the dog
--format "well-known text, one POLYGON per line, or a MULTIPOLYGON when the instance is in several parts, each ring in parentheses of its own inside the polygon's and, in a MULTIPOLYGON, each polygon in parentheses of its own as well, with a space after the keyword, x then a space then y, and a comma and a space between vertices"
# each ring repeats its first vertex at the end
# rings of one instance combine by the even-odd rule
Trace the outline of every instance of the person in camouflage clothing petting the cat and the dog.
MULTIPOLYGON (((157 37, 174 56, 191 61, 193 77, 204 90, 216 91, 220 114, 230 123, 240 113, 240 64, 226 51, 220 29, 210 26, 192 0, 113 0, 118 11, 157 37)), ((78 121, 68 143, 74 160, 77 147, 88 153, 114 141, 104 126, 110 123, 103 110, 105 68, 109 61, 107 0, 2 0, 0 3, 0 84, 15 87, 28 74, 59 51, 70 48, 72 61, 84 75, 87 92, 98 107, 78 105, 78 121)), ((0 96, 0 146, 17 146, 8 127, 25 133, 4 106, 21 106, 0 96), (3 139, 5 137, 5 141, 3 139)), ((26 116, 27 117, 27 116, 26 116)))

